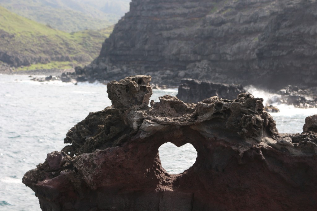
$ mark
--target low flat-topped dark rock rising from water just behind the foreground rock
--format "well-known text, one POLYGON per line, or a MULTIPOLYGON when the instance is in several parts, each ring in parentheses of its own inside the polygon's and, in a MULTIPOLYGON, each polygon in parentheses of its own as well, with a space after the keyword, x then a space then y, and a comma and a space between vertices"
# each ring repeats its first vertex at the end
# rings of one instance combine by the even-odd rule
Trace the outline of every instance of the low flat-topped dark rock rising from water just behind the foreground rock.
POLYGON ((176 97, 185 103, 197 103, 213 96, 218 96, 222 99, 236 99, 238 94, 245 92, 241 85, 183 79, 178 86, 176 97))

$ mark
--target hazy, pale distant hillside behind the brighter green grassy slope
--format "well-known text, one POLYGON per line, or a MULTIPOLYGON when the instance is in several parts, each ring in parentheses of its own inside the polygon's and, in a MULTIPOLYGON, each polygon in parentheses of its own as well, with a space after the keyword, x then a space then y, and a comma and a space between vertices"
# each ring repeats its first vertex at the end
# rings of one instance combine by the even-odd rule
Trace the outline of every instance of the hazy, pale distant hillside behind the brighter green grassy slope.
POLYGON ((130 0, 0 0, 0 5, 20 16, 74 32, 104 29, 129 10, 130 0))

